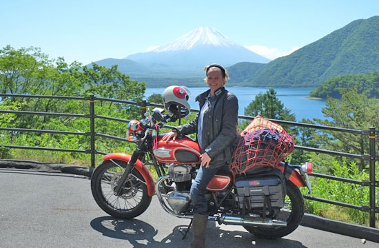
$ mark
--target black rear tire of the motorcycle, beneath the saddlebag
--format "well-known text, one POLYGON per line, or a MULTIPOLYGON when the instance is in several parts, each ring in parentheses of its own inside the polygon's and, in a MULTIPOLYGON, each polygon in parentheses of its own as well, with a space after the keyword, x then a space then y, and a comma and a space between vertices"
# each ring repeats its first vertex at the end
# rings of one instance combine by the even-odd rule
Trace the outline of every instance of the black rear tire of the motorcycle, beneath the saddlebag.
MULTIPOLYGON (((300 193, 298 187, 287 181, 287 196, 286 200, 289 198, 291 200, 291 212, 287 216, 287 226, 286 227, 252 227, 244 226, 244 228, 249 231, 249 233, 254 234, 258 238, 275 239, 282 238, 294 231, 298 225, 300 225, 301 220, 304 216, 304 198, 300 193), (288 198, 287 198, 288 197, 288 198)), ((283 211, 283 209, 280 209, 283 211)), ((280 219, 283 220, 283 219, 280 219)))

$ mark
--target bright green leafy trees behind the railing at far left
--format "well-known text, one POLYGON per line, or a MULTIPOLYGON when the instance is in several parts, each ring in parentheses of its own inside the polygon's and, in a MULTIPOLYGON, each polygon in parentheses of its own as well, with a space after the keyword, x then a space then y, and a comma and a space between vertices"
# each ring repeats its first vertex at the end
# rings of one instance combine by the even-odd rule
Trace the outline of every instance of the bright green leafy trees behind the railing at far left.
MULTIPOLYGON (((130 80, 116 66, 105 68, 92 64, 65 63, 63 58, 49 59, 39 48, 15 50, 10 45, 0 50, 0 90, 2 94, 83 96, 91 94, 107 99, 141 101, 145 83, 130 80)), ((139 118, 141 110, 135 105, 121 105, 110 101, 95 101, 95 113, 116 118, 139 118)), ((89 114, 89 101, 45 99, 30 97, 3 97, 3 110, 89 114)), ((30 114, 2 114, 1 127, 19 127, 38 130, 90 132, 89 118, 30 114)), ((127 123, 116 123, 96 118, 96 132, 124 136, 127 123)), ((3 133, 2 133, 3 134, 3 133)), ((100 141, 97 148, 110 151, 119 147, 114 141, 100 141)), ((63 136, 32 132, 3 134, 2 143, 23 146, 88 149, 89 136, 63 136)), ((127 147, 127 145, 125 145, 127 147)), ((25 152, 27 153, 27 152, 25 152)), ((74 155, 73 156, 78 156, 74 155)))

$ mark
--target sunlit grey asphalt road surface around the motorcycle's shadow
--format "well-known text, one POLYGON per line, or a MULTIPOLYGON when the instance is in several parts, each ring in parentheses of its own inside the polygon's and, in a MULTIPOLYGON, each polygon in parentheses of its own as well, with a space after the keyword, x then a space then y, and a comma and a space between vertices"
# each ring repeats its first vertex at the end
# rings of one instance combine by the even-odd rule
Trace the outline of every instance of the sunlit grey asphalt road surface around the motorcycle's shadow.
MULTIPOLYGON (((188 223, 165 213, 156 197, 141 216, 116 220, 97 207, 88 178, 0 169, 1 248, 188 247, 190 236, 181 240, 178 231, 188 223)), ((207 247, 379 247, 303 226, 284 238, 263 240, 241 227, 209 222, 207 237, 207 247)))

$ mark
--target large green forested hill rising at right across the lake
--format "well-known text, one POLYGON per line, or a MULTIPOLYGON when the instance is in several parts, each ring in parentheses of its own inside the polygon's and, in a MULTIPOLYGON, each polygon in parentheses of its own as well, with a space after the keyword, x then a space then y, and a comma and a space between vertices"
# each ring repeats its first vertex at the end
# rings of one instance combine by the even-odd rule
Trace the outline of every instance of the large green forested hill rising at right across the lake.
POLYGON ((379 70, 378 27, 378 16, 353 21, 246 79, 253 79, 249 86, 315 87, 333 76, 379 70))

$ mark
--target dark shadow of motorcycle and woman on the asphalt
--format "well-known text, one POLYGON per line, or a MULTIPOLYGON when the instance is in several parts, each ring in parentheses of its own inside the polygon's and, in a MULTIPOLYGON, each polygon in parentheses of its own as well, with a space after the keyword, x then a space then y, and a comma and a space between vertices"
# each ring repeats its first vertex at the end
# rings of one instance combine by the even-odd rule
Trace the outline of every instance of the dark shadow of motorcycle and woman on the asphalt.
MULTIPOLYGON (((256 247, 306 248, 296 240, 285 238, 264 240, 247 232, 225 231, 209 224, 207 227, 207 247, 254 247, 255 245, 252 242, 255 241, 256 247)), ((120 220, 111 216, 103 216, 92 220, 90 225, 103 236, 127 240, 133 247, 189 247, 192 238, 189 233, 185 240, 182 239, 183 235, 179 230, 186 228, 184 225, 174 227, 171 234, 163 239, 159 238, 159 240, 154 239, 158 230, 142 220, 120 220)))

